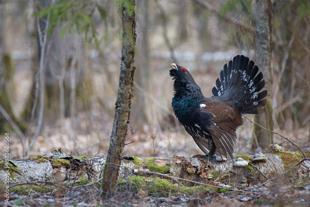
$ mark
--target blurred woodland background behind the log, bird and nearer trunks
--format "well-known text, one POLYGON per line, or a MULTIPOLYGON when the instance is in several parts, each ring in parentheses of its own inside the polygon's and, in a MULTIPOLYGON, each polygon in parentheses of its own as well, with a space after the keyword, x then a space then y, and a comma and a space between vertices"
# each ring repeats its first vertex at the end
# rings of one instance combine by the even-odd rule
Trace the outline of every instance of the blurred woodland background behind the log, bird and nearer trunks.
MULTIPOLYGON (((57 148, 72 155, 106 155, 120 71, 118 3, 0 2, 1 155, 6 132, 10 159, 49 156, 57 148), (51 19, 33 15, 50 5, 57 6, 49 10, 51 19)), ((272 114, 266 115, 267 125, 309 150, 310 2, 271 4, 271 76, 265 80, 272 114)), ((172 112, 169 66, 186 67, 204 95, 212 96, 220 70, 235 55, 260 62, 256 6, 251 0, 137 0, 137 69, 126 143, 134 142, 125 146, 124 156, 202 153, 172 112)), ((244 122, 235 153, 264 150, 268 143, 260 146, 255 127, 244 122)), ((280 136, 270 137, 270 143, 296 151, 280 136)))

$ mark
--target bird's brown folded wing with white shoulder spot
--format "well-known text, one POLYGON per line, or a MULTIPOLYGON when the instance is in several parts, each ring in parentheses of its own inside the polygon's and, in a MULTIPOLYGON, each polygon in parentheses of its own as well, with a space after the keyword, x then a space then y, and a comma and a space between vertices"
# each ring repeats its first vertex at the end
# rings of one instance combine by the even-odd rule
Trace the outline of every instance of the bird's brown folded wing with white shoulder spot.
POLYGON ((241 114, 225 101, 208 99, 202 104, 205 106, 200 105, 201 125, 210 132, 219 155, 228 157, 229 154, 233 157, 236 129, 243 125, 241 114), (205 114, 214 114, 214 118, 204 119, 205 114))

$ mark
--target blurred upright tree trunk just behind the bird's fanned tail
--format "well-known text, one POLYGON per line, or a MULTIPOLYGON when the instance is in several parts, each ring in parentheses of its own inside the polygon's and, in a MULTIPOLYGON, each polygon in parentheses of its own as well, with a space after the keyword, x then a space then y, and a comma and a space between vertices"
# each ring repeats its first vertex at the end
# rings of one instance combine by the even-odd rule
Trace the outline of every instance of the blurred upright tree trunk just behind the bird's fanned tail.
MULTIPOLYGON (((260 125, 273 130, 272 122, 272 56, 270 47, 271 38, 271 2, 270 0, 256 0, 254 13, 255 22, 255 49, 257 65, 263 73, 265 80, 265 89, 268 90, 267 104, 263 115, 255 115, 254 121, 260 125)), ((257 138, 259 147, 265 149, 269 144, 272 144, 273 134, 261 129, 259 126, 254 126, 255 137, 257 138)), ((252 142, 252 148, 257 148, 255 140, 252 142)))

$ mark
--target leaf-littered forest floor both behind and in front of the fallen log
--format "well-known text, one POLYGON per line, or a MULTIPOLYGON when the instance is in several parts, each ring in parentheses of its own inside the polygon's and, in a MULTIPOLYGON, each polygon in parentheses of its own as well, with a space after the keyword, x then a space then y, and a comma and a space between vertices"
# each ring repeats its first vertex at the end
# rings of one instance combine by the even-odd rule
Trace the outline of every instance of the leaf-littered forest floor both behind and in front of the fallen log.
MULTIPOLYGON (((92 121, 83 118, 83 114, 79 114, 76 120, 81 121, 76 123, 74 130, 71 130, 69 119, 65 119, 62 125, 44 125, 42 134, 38 136, 34 148, 29 152, 29 158, 38 155, 51 156, 51 151, 57 148, 62 148, 72 156, 106 156, 113 119, 100 116, 92 121), (89 129, 86 126, 92 128, 89 129)), ((252 124, 245 120, 245 124, 238 129, 236 155, 253 153, 250 147, 251 128, 252 124)), ((13 133, 10 134, 11 159, 23 159, 20 140, 15 138, 13 133)), ((281 134, 297 145, 304 146, 303 150, 309 151, 308 129, 281 130, 281 134)), ((178 156, 191 157, 202 153, 193 139, 179 125, 164 131, 152 130, 150 126, 143 125, 140 130, 129 133, 126 143, 131 144, 125 146, 124 156, 173 157, 176 152, 178 156)), ((274 143, 282 146, 285 151, 298 151, 278 135, 275 135, 274 143)), ((0 143, 2 144, 3 142, 0 143)), ((4 149, 2 146, 0 148, 4 149)), ((160 188, 152 183, 149 186, 143 184, 143 188, 140 188, 141 183, 135 183, 129 180, 130 178, 126 178, 126 182, 118 186, 112 199, 102 199, 100 187, 98 187, 100 182, 94 182, 89 186, 47 185, 43 192, 36 191, 33 185, 29 185, 23 186, 22 194, 12 192, 10 202, 4 202, 3 206, 310 206, 309 170, 310 168, 306 169, 305 175, 296 174, 295 177, 279 178, 276 182, 263 186, 259 186, 261 183, 250 183, 246 187, 235 186, 234 188, 234 190, 248 192, 222 192, 208 188, 200 188, 197 191, 179 189, 172 191, 169 196, 169 188, 160 188)), ((3 200, 3 196, 0 200, 3 200)))

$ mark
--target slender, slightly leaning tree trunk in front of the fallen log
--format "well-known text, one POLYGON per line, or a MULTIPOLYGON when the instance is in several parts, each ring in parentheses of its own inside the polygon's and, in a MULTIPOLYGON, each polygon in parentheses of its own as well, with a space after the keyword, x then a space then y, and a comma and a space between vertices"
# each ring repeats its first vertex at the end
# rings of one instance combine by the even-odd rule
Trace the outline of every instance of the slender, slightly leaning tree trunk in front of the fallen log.
POLYGON ((110 147, 102 175, 103 196, 111 196, 115 190, 130 120, 130 107, 135 74, 136 21, 134 10, 135 0, 128 0, 128 2, 130 6, 128 6, 128 4, 127 7, 122 5, 123 40, 121 73, 119 76, 110 147))

